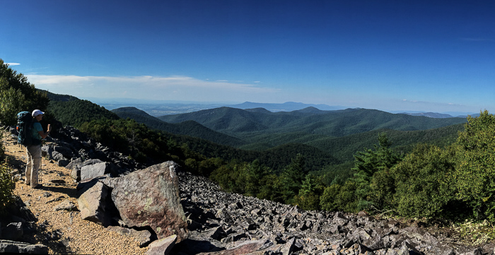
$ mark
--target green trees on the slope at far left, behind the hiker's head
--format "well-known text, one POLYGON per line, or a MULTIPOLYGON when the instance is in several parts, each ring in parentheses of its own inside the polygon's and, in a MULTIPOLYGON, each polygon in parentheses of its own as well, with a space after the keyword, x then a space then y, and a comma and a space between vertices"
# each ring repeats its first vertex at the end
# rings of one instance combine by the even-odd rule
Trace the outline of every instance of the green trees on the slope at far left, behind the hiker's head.
POLYGON ((48 106, 46 93, 36 90, 22 73, 17 73, 0 59, 0 122, 6 125, 17 123, 16 114, 21 111, 41 109, 48 106))

